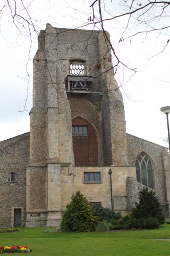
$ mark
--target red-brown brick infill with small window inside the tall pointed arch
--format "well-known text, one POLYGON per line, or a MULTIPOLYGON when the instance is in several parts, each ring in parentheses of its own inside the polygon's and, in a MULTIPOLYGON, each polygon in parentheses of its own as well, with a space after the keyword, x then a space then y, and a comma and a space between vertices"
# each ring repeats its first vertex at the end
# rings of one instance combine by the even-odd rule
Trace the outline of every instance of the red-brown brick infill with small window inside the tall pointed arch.
POLYGON ((72 119, 73 153, 75 165, 98 165, 98 136, 94 125, 76 116, 72 119))

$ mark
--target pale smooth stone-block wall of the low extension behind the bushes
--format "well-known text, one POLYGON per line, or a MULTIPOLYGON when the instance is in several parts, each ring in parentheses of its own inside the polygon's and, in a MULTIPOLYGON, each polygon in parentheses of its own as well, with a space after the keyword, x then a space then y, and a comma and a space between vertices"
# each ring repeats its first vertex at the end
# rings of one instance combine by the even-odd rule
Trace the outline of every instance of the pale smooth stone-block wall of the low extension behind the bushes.
POLYGON ((135 179, 135 167, 87 167, 74 166, 74 193, 78 190, 87 197, 89 202, 101 202, 103 207, 111 209, 111 184, 109 169, 112 170, 112 193, 115 211, 127 211, 126 179, 135 179), (101 182, 84 182, 84 172, 100 172, 101 182))

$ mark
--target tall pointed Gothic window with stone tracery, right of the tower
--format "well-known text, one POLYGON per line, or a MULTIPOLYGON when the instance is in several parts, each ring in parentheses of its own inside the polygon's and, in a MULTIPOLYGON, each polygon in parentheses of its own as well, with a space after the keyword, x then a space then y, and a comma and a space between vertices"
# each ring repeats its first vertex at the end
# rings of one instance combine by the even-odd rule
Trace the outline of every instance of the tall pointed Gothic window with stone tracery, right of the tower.
POLYGON ((137 181, 150 188, 154 188, 153 167, 149 157, 142 152, 135 161, 137 181))

